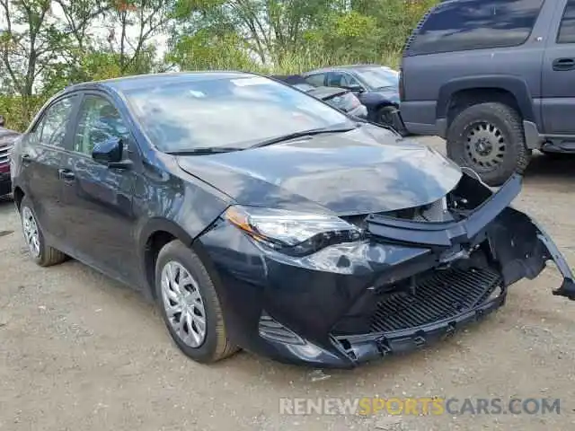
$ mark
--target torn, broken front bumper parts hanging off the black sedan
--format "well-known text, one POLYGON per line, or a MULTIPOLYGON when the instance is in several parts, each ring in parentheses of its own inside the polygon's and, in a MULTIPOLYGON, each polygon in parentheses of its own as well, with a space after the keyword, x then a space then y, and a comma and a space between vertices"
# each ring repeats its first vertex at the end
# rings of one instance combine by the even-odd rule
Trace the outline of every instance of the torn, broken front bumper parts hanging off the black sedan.
MULTIPOLYGON (((514 176, 460 222, 429 224, 370 216, 369 231, 376 236, 437 248, 438 267, 453 262, 464 263, 464 269, 444 270, 439 280, 441 276, 434 271, 434 276, 428 277, 423 284, 429 284, 431 278, 431 283, 436 285, 435 292, 430 292, 429 297, 425 297, 424 292, 420 295, 420 303, 416 295, 407 294, 403 294, 403 301, 388 300, 387 308, 393 305, 399 312, 397 315, 387 312, 387 328, 360 335, 336 335, 335 339, 346 348, 349 356, 362 363, 447 338, 458 328, 480 321, 500 308, 505 303, 508 286, 522 278, 534 279, 549 260, 553 260, 563 277, 562 285, 553 290, 553 295, 575 300, 573 273, 551 237, 529 216, 509 207, 520 188, 520 177, 514 176), (489 261, 473 262, 473 250, 481 247, 488 248, 482 258, 487 257, 489 261), (402 313, 398 305, 403 303, 408 304, 402 313), (426 316, 421 314, 426 312, 435 320, 424 321, 422 317, 426 316), (398 322, 402 318, 407 324, 398 322)), ((367 302, 370 300, 373 298, 367 302)), ((381 308, 376 306, 376 312, 381 314, 381 308)), ((382 321, 381 315, 376 318, 382 321)))

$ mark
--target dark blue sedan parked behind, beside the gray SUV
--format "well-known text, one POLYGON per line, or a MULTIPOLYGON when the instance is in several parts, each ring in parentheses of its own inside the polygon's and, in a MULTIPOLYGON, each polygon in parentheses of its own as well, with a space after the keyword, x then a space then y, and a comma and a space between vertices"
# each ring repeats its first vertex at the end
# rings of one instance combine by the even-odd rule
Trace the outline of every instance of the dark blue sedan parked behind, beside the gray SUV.
POLYGON ((308 84, 345 88, 367 108, 367 119, 395 128, 404 135, 399 111, 399 74, 379 65, 333 66, 302 74, 308 84))

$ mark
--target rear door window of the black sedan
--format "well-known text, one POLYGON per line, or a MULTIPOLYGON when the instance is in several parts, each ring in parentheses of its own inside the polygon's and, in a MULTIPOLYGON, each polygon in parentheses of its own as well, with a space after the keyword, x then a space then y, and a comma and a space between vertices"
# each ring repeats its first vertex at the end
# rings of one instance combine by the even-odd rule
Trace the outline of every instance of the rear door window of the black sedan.
POLYGON ((67 97, 51 105, 40 123, 34 130, 37 142, 42 145, 64 147, 66 126, 70 118, 70 112, 74 105, 75 96, 67 97))

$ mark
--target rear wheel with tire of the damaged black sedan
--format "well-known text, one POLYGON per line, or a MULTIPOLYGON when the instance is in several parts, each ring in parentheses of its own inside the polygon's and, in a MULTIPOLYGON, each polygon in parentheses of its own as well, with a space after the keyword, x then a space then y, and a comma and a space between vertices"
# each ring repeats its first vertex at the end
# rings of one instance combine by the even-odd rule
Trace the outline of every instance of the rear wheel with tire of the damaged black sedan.
POLYGON ((20 219, 22 223, 22 233, 26 245, 28 245, 30 256, 40 267, 51 267, 67 259, 66 254, 50 247, 46 243, 36 213, 34 213, 32 209, 30 199, 25 196, 22 198, 22 203, 20 204, 20 219))

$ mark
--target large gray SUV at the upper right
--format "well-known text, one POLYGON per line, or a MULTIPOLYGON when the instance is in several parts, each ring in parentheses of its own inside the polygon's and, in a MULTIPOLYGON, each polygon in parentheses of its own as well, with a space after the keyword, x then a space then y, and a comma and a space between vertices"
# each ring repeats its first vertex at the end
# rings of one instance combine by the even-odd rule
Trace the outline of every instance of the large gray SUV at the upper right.
POLYGON ((451 0, 403 50, 405 127, 500 185, 533 150, 575 153, 575 0, 451 0))

